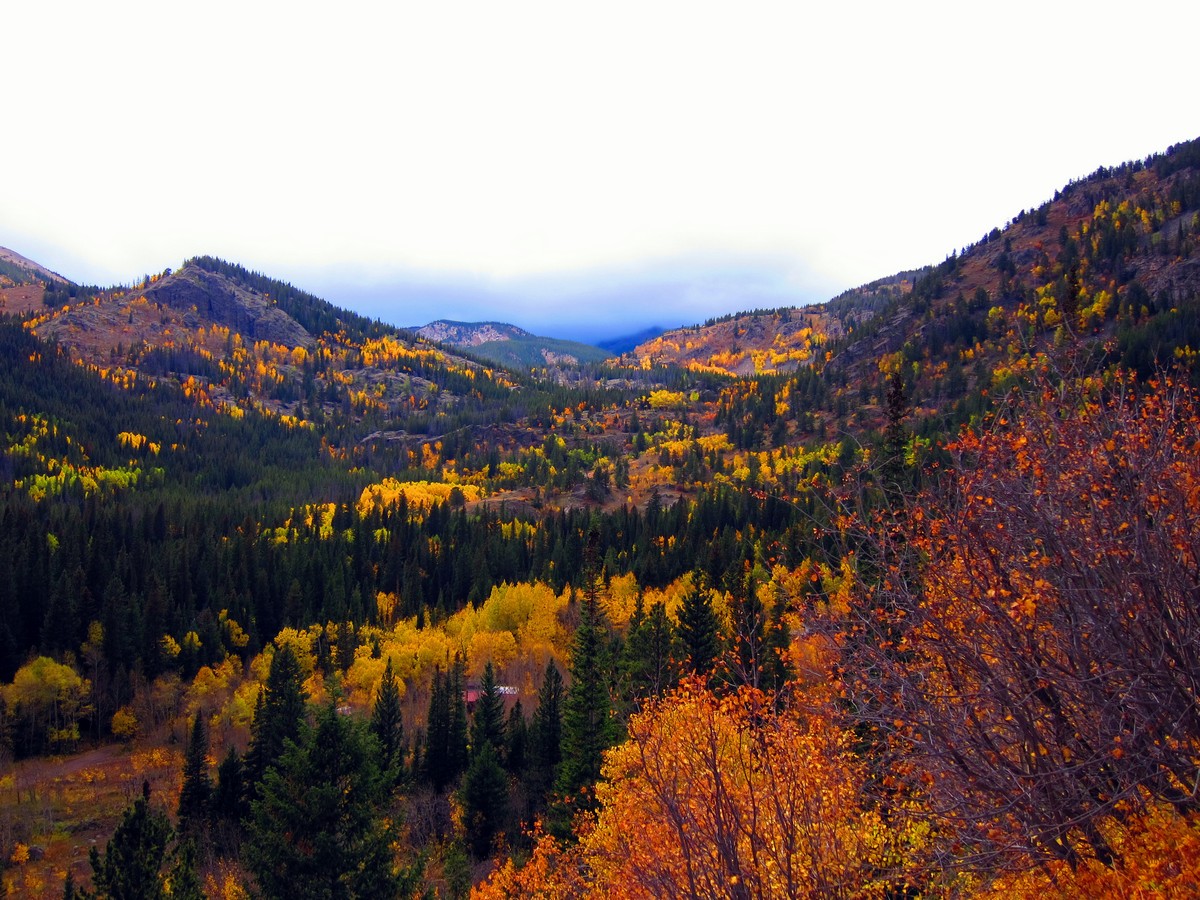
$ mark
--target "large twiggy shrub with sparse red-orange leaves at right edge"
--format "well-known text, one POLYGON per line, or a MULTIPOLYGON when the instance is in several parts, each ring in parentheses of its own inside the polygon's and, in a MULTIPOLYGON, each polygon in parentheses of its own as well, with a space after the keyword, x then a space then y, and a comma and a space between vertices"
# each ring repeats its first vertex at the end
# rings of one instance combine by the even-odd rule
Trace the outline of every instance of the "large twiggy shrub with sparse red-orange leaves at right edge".
POLYGON ((1196 397, 1048 379, 952 452, 876 535, 857 709, 907 748, 960 862, 1116 864, 1112 822, 1189 814, 1200 782, 1196 397))

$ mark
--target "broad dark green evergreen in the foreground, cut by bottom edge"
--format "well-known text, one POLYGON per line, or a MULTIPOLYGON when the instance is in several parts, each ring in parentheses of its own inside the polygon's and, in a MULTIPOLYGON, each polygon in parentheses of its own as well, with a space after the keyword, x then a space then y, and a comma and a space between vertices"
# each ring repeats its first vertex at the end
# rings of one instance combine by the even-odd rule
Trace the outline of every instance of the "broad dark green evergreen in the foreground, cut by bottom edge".
POLYGON ((288 744, 268 769, 245 847, 264 898, 397 895, 378 755, 366 726, 330 704, 308 738, 288 744))

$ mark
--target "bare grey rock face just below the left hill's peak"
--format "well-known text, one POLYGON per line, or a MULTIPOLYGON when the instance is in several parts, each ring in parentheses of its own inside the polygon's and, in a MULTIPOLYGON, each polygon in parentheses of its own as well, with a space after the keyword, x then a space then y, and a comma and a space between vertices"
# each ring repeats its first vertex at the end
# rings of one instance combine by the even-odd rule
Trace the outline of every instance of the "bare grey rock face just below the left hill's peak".
POLYGON ((144 296, 185 314, 194 310, 202 318, 254 341, 312 347, 312 335, 271 300, 197 265, 184 266, 151 284, 144 296))

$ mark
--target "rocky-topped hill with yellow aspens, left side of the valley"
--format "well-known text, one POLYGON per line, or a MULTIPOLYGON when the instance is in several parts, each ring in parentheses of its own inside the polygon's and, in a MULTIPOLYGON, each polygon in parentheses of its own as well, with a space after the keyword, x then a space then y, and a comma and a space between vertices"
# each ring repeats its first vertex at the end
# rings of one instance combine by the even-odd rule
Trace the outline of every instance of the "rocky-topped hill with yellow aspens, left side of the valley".
POLYGON ((209 257, 28 320, 114 378, 167 378, 200 403, 395 428, 504 401, 503 372, 209 257))

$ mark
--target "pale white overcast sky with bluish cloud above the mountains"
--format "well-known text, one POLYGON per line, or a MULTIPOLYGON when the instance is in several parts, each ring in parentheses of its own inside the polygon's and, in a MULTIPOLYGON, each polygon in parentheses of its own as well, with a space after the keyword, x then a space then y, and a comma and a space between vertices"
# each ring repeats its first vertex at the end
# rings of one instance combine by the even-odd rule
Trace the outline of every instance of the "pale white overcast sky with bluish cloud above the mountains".
POLYGON ((1200 4, 7 4, 0 245, 602 340, 937 263, 1200 137, 1200 4))

